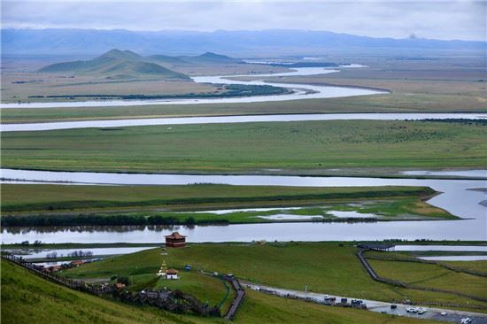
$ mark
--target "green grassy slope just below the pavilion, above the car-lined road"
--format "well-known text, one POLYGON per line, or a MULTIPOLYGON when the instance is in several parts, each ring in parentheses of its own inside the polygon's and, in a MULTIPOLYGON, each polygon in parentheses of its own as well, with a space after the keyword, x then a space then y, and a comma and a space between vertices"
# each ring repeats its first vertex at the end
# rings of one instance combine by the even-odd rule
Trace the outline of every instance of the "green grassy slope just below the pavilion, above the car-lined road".
POLYGON ((135 266, 153 271, 165 259, 175 268, 191 264, 195 271, 233 273, 243 280, 274 287, 304 290, 307 285, 310 291, 341 296, 383 301, 401 301, 407 297, 420 304, 480 305, 487 311, 487 303, 468 298, 398 289, 374 282, 360 265, 355 251, 346 243, 344 246, 338 243, 191 244, 185 249, 169 249, 167 256, 161 256, 159 249, 142 251, 81 266, 67 271, 66 275, 107 278, 119 273, 140 274, 135 266))

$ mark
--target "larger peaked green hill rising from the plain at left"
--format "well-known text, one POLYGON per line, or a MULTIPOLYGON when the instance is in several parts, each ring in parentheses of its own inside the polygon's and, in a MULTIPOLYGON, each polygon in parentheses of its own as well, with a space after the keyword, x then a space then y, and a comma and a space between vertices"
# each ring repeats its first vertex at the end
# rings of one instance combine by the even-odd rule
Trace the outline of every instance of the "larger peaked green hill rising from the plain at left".
POLYGON ((110 50, 88 61, 56 63, 44 66, 39 72, 96 74, 107 79, 158 77, 167 80, 189 80, 187 75, 150 62, 148 58, 130 50, 110 50))

